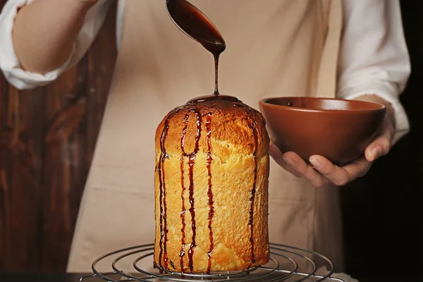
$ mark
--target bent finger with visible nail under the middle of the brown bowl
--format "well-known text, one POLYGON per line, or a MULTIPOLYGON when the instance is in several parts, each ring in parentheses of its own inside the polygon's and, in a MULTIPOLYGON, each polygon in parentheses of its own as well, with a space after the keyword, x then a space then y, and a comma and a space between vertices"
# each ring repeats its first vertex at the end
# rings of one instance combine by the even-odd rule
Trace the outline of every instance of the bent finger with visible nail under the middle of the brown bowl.
POLYGON ((310 157, 309 161, 321 175, 337 186, 343 186, 356 178, 364 176, 372 166, 372 162, 367 161, 364 157, 342 167, 336 166, 325 157, 317 155, 310 157))

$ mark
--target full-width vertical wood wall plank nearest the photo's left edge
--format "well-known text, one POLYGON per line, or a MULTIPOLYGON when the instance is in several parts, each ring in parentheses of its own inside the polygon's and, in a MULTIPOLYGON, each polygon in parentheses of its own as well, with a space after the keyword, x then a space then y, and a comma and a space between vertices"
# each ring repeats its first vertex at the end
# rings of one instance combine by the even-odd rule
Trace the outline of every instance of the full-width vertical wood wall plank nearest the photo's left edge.
POLYGON ((12 271, 38 269, 39 228, 42 220, 40 169, 43 90, 18 92, 9 87, 8 119, 11 139, 6 166, 8 191, 8 252, 6 267, 12 271), (30 251, 28 251, 30 250, 30 251))

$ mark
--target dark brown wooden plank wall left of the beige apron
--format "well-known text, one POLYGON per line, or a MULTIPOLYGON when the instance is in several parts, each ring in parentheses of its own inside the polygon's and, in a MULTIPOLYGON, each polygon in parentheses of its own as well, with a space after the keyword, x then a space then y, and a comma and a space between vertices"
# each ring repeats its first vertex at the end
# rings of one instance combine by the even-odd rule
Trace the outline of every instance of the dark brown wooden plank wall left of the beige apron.
POLYGON ((78 66, 50 85, 18 91, 0 75, 0 271, 66 268, 116 60, 115 16, 116 5, 78 66))

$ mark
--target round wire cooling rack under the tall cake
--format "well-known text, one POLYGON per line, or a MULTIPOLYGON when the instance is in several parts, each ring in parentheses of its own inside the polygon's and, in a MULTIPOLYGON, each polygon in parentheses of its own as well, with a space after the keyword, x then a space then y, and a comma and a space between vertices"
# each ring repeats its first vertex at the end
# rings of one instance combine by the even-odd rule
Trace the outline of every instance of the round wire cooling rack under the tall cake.
POLYGON ((92 263, 93 274, 83 276, 80 282, 121 282, 121 281, 337 281, 340 278, 331 277, 333 263, 327 257, 317 252, 290 247, 287 245, 270 244, 271 257, 268 264, 256 266, 243 271, 223 271, 211 274, 180 274, 168 271, 161 274, 158 269, 147 271, 142 269, 142 262, 153 263, 154 245, 139 245, 116 250, 99 257, 92 263), (133 259, 133 271, 125 272, 119 269, 119 264, 124 259, 133 259), (111 271, 98 271, 98 264, 111 260, 111 271))

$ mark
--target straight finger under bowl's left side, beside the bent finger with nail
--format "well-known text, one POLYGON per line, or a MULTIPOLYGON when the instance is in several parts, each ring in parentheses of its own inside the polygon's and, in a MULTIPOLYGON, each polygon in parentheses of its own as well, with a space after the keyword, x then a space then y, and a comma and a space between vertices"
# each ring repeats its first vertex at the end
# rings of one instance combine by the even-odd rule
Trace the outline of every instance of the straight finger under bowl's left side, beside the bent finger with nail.
POLYGON ((288 152, 283 154, 283 160, 286 164, 289 164, 298 175, 309 181, 314 188, 319 188, 326 184, 325 178, 315 171, 314 168, 309 166, 303 159, 301 159, 298 154, 288 152))

